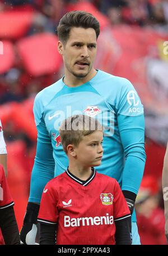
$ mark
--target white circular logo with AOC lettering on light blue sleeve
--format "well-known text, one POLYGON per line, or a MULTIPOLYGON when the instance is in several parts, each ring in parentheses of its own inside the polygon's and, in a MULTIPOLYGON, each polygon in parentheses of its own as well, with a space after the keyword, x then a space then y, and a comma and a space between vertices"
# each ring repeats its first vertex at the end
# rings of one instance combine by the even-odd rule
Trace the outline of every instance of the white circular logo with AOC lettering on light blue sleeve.
POLYGON ((129 108, 129 112, 141 112, 141 109, 137 107, 139 105, 139 97, 138 94, 134 90, 130 90, 127 94, 127 101, 131 108, 129 108))

